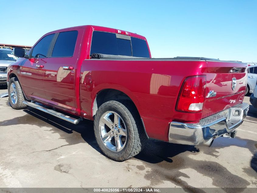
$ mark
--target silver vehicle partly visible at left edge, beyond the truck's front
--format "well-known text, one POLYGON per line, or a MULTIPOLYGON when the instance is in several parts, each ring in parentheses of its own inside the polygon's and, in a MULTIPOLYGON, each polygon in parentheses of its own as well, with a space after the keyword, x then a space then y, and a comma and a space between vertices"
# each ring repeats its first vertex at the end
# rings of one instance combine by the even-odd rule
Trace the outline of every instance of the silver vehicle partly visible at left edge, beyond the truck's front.
POLYGON ((7 67, 16 60, 11 49, 0 48, 0 85, 6 84, 7 67))

